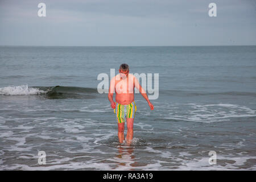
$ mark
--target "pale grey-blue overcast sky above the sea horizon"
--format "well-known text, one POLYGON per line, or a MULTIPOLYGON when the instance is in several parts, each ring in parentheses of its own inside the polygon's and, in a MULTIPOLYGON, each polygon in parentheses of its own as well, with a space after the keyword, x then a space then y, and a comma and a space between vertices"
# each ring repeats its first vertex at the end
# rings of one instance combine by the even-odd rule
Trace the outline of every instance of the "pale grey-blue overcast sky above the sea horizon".
POLYGON ((0 0, 0 46, 238 45, 256 45, 255 0, 0 0))

